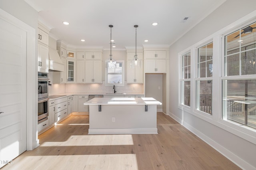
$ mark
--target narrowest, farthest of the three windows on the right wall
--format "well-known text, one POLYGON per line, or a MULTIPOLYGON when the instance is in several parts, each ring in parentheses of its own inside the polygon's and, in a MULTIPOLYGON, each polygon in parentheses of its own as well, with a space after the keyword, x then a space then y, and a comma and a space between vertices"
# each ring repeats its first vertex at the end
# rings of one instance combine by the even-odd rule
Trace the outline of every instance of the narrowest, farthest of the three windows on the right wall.
POLYGON ((190 106, 190 52, 182 55, 181 104, 190 106))

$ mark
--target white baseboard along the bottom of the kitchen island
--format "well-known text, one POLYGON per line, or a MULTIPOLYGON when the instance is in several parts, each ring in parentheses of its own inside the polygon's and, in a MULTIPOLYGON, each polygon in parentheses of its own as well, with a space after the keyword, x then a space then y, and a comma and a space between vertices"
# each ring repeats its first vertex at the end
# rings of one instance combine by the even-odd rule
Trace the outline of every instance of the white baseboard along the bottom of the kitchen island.
POLYGON ((88 134, 158 134, 157 128, 90 129, 88 134))

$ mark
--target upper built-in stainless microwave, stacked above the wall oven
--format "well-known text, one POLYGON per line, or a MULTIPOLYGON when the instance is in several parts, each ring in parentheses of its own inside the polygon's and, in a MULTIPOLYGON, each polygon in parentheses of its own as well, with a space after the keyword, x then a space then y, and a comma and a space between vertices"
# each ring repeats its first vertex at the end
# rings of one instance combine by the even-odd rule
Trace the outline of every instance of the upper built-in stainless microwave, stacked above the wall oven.
POLYGON ((38 100, 48 97, 48 73, 38 72, 38 100))

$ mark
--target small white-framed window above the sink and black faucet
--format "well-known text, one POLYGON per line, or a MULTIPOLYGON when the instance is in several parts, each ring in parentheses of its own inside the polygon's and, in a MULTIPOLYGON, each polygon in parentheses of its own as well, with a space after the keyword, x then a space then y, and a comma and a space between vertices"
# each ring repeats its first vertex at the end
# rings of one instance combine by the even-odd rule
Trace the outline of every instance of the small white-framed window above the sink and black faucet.
MULTIPOLYGON (((111 64, 106 61, 106 65, 111 64)), ((114 67, 106 67, 105 69, 105 85, 106 86, 124 86, 124 61, 116 61, 114 67)))

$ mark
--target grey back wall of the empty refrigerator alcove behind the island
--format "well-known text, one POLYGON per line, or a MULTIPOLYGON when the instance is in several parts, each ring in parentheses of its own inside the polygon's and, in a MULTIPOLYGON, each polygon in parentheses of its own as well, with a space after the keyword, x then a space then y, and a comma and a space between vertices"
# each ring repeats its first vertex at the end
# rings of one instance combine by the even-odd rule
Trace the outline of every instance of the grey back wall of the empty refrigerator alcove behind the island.
MULTIPOLYGON (((163 75, 145 74, 145 97, 153 97, 163 103, 163 75), (160 87, 160 89, 159 89, 160 87)), ((162 105, 157 105, 158 111, 162 111, 162 105)))

